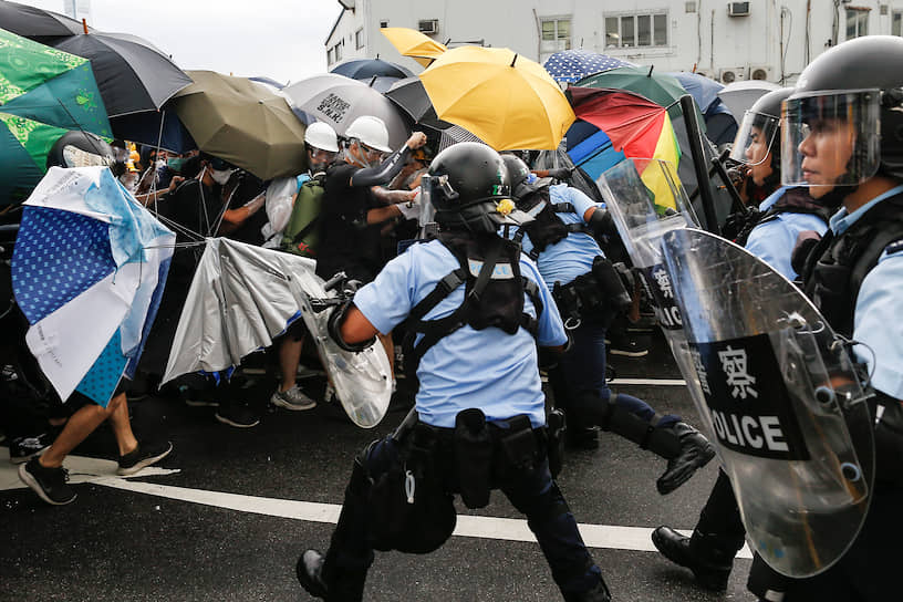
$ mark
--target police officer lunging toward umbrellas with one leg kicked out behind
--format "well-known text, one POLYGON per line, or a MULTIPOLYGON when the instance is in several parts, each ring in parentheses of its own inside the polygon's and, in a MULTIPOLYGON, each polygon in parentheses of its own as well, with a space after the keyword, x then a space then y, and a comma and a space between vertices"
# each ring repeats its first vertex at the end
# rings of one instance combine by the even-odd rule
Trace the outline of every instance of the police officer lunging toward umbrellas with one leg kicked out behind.
POLYGON ((568 429, 594 437, 593 425, 612 430, 667 459, 656 486, 670 494, 713 457, 712 444, 679 416, 658 415, 632 395, 612 393, 605 382, 605 329, 630 297, 592 236, 592 228, 612 228, 605 209, 564 184, 530 184, 519 157, 504 155, 518 208, 534 219, 512 236, 537 261, 559 312, 567 319, 573 344, 552 372, 563 393, 557 403, 568 415, 568 429), (619 301, 620 299, 620 305, 619 301))

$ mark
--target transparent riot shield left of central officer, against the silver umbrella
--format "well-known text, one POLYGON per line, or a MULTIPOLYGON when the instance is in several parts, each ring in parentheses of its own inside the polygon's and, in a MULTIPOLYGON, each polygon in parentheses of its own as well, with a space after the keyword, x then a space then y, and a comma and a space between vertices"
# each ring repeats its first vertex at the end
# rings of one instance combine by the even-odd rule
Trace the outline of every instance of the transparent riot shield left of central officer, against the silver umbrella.
POLYGON ((392 397, 392 370, 382 343, 376 339, 356 353, 336 345, 326 331, 330 307, 335 304, 330 301, 336 300, 336 293, 328 291, 313 270, 295 272, 294 276, 304 291, 299 295, 301 318, 316 343, 342 407, 357 426, 376 426, 385 416, 392 397))

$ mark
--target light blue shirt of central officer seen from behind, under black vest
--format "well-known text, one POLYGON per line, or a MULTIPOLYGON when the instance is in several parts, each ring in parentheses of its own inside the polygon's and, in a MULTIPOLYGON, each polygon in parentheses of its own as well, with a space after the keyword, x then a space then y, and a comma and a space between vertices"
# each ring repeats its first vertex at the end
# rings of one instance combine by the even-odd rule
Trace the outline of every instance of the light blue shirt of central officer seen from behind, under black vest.
MULTIPOLYGON (((388 333, 411 310, 460 264, 438 240, 413 245, 390 261, 370 284, 354 295, 354 304, 382 333, 388 333)), ((497 269, 499 267, 497 266, 497 269)), ((521 255, 520 272, 536 283, 536 263, 521 255)), ((433 308, 425 320, 444 318, 464 302, 464 284, 433 308)), ((464 325, 442 338, 421 360, 416 407, 426 424, 452 428, 455 416, 478 407, 488 421, 527 414, 533 427, 546 424, 546 402, 537 369, 537 343, 562 345, 568 338, 551 295, 538 287, 543 310, 538 336, 518 329, 507 334, 497 328, 480 331, 464 325)), ((525 295, 523 310, 536 316, 536 308, 525 295)))

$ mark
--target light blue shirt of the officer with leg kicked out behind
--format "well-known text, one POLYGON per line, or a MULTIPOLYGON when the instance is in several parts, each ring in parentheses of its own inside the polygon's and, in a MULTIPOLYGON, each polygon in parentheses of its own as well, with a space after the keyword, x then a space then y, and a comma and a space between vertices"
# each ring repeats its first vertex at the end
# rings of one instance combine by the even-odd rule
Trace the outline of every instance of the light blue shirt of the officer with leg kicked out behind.
MULTIPOLYGON (((574 207, 574 212, 563 211, 558 214, 564 224, 582 224, 583 214, 590 207, 602 207, 604 204, 595 203, 577 188, 567 184, 557 184, 549 187, 549 201, 553 205, 570 203, 574 207)), ((512 232, 517 231, 512 228, 512 232)), ((530 237, 525 232, 521 240, 523 252, 529 253, 533 249, 530 237)), ((571 232, 568 237, 553 245, 548 245, 542 251, 538 264, 539 273, 549 290, 554 287, 556 281, 567 284, 578 276, 582 276, 592 270, 592 262, 596 256, 605 257, 595 239, 584 232, 571 232)))

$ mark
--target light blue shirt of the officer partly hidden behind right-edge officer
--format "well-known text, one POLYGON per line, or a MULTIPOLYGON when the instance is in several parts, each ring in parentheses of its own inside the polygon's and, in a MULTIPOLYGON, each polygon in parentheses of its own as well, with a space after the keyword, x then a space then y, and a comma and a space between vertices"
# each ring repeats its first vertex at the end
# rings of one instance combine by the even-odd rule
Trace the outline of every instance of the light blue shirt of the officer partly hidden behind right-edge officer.
MULTIPOLYGON (((787 187, 778 188, 759 205, 760 211, 767 211, 775 205, 787 187)), ((818 216, 811 214, 778 214, 776 219, 766 221, 752 228, 746 241, 746 250, 775 268, 788 280, 797 278, 797 272, 790 264, 793 255, 793 247, 800 232, 814 230, 819 236, 823 236, 828 230, 828 225, 818 216)))

